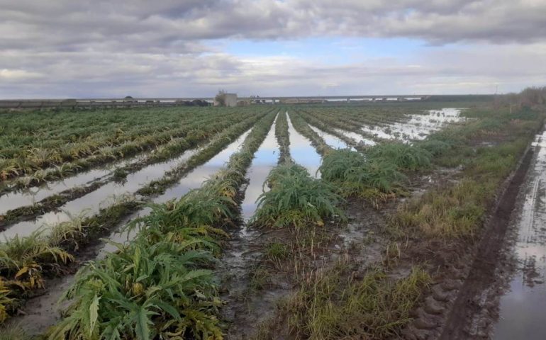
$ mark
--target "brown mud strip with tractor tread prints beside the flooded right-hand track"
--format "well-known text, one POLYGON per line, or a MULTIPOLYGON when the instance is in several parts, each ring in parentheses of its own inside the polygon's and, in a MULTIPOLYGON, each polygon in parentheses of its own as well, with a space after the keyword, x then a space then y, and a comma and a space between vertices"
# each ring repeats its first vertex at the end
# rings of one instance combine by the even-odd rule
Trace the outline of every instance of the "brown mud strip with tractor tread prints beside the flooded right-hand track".
POLYGON ((403 330, 405 339, 489 338, 496 315, 492 297, 498 300, 498 289, 504 285, 498 274, 509 270, 503 256, 505 235, 532 159, 533 150, 528 149, 505 181, 479 238, 407 242, 403 261, 425 263, 434 282, 414 311, 415 319, 403 330))

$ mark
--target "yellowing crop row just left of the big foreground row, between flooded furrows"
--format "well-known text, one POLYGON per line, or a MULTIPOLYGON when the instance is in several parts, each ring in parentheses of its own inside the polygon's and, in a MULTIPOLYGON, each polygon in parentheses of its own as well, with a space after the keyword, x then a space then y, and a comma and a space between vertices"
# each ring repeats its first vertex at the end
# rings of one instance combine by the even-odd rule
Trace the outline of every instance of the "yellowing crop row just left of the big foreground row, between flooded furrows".
MULTIPOLYGON (((251 128, 263 116, 263 114, 257 113, 240 123, 230 125, 224 132, 213 138, 208 145, 188 159, 186 163, 180 164, 177 168, 166 173, 162 186, 158 187, 155 182, 144 186, 142 190, 147 194, 143 193, 143 199, 164 190, 168 185, 167 183, 176 183, 180 177, 194 169, 195 166, 206 162, 225 147, 230 140, 251 128)), ((74 245, 78 247, 82 246, 82 243, 92 241, 94 236, 104 234, 106 230, 115 227, 118 222, 123 220, 123 217, 141 206, 141 203, 133 200, 116 203, 101 210, 98 215, 93 217, 64 222, 51 227, 49 230, 39 229, 29 237, 14 237, 0 244, 0 280, 4 283, 6 298, 10 299, 9 303, 6 302, 5 305, 12 306, 6 308, 13 312, 21 299, 24 300, 31 290, 42 287, 41 284, 37 285, 36 282, 43 283, 41 278, 44 275, 51 276, 60 273, 60 268, 74 259, 73 255, 69 254, 71 250, 74 250, 72 248, 74 245), (46 231, 48 231, 48 234, 45 234, 46 231), (62 235, 62 242, 53 235, 62 235), (40 246, 37 248, 36 244, 40 244, 40 246), (38 249, 43 250, 38 251, 38 249), (52 256, 55 252, 64 256, 52 256)))

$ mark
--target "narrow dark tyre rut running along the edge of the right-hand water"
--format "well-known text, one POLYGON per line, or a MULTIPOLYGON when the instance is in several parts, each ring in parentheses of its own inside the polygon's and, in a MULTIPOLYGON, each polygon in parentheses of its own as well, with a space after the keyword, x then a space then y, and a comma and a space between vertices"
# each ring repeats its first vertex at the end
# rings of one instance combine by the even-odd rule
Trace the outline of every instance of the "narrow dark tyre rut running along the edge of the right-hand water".
MULTIPOLYGON (((481 293, 496 281, 496 268, 503 248, 504 238, 512 211, 516 206, 520 187, 525 182, 526 174, 533 159, 533 154, 533 149, 528 149, 525 152, 518 169, 509 180, 508 186, 506 186, 498 201, 494 214, 487 221, 485 232, 477 245, 472 266, 466 280, 464 280, 460 290, 455 295, 455 301, 447 314, 439 339, 472 339, 475 337, 474 334, 470 334, 469 328, 472 327, 474 315, 484 308, 481 303, 481 293)), ((440 295, 445 295, 445 293, 445 290, 434 292, 433 288, 433 296, 435 297, 441 297, 440 295)), ((447 296, 445 297, 447 299, 447 296)), ((427 319, 427 316, 423 315, 419 319, 427 319)), ((476 336, 484 337, 483 334, 476 336)))

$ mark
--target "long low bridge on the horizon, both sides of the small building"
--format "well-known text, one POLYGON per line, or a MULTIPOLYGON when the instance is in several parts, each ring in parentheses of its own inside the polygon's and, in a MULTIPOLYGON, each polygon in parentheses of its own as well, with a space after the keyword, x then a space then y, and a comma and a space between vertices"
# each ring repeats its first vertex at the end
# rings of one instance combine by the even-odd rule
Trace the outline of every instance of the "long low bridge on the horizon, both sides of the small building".
MULTIPOLYGON (((367 96, 267 96, 239 97, 254 103, 324 103, 326 101, 425 101, 430 95, 367 95, 367 96)), ((0 100, 0 108, 95 108, 134 106, 179 106, 185 101, 207 101, 213 97, 189 98, 82 98, 82 99, 9 99, 0 100)))

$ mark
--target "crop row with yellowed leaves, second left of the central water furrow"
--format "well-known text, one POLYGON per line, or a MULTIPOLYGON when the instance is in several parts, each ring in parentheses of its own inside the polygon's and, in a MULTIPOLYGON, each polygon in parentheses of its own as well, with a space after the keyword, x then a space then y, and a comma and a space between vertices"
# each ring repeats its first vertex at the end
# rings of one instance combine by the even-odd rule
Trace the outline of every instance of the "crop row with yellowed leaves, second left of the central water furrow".
MULTIPOLYGON (((169 180, 163 182, 164 186, 162 186, 162 188, 164 189, 167 187, 167 182, 176 183, 176 180, 179 177, 193 169, 194 166, 197 166, 202 162, 206 162, 206 160, 210 159, 214 154, 216 154, 219 149, 227 145, 228 142, 233 139, 233 137, 240 135, 245 130, 252 127, 252 125, 254 125, 258 119, 263 117, 264 114, 265 113, 257 114, 254 118, 232 125, 225 132, 218 135, 213 141, 211 141, 211 143, 209 143, 206 147, 203 147, 200 152, 190 157, 185 164, 181 164, 177 167, 177 169, 174 169, 174 171, 171 171, 169 174, 165 174, 165 176, 168 176, 169 180)), ((269 115, 272 115, 272 113, 269 115)), ((149 195, 143 195, 142 199, 144 200, 146 197, 151 197, 155 193, 160 192, 158 191, 159 187, 157 186, 157 183, 153 183, 152 185, 147 186, 147 188, 150 188, 151 190, 149 191, 149 195)), ((74 256, 70 254, 71 250, 74 250, 74 248, 77 249, 78 247, 81 249, 81 247, 85 244, 93 243, 93 236, 97 234, 104 235, 106 230, 117 225, 117 223, 121 221, 124 216, 128 215, 130 212, 138 210, 141 205, 142 203, 135 202, 133 200, 117 203, 106 209, 100 210, 98 215, 87 217, 83 220, 72 220, 56 225, 52 227, 50 232, 40 230, 38 232, 33 232, 28 237, 15 237, 13 239, 9 239, 8 242, 1 244, 2 251, 5 251, 5 253, 2 253, 3 258, 6 259, 6 261, 18 263, 17 261, 22 261, 22 259, 21 257, 18 258, 17 256, 23 256, 26 259, 25 261, 30 261, 28 266, 34 268, 32 273, 28 273, 29 277, 21 274, 15 276, 16 273, 11 271, 13 270, 13 267, 4 267, 0 269, 0 273, 4 277, 4 282, 6 282, 11 288, 11 292, 8 295, 13 296, 13 298, 19 300, 19 302, 23 301, 33 289, 40 288, 42 285, 33 284, 32 287, 25 287, 23 289, 19 283, 28 283, 28 280, 38 282, 42 280, 43 277, 55 275, 64 271, 62 268, 68 262, 74 260, 74 256), (60 251, 60 254, 64 254, 64 256, 52 258, 50 256, 43 256, 43 254, 40 254, 43 257, 40 257, 40 255, 33 257, 29 254, 24 255, 21 253, 13 253, 15 249, 19 249, 21 247, 21 244, 33 246, 33 244, 36 242, 41 242, 40 244, 43 244, 45 249, 57 249, 60 251), (52 268, 57 269, 52 271, 52 268)), ((30 251, 30 249, 27 249, 27 251, 30 251)), ((32 251, 30 251, 30 253, 31 252, 32 251)), ((16 307, 16 301, 13 303, 15 303, 14 306, 16 307)))

